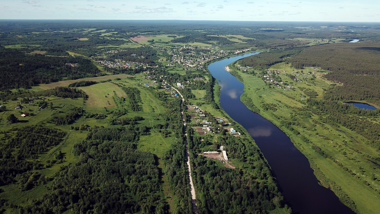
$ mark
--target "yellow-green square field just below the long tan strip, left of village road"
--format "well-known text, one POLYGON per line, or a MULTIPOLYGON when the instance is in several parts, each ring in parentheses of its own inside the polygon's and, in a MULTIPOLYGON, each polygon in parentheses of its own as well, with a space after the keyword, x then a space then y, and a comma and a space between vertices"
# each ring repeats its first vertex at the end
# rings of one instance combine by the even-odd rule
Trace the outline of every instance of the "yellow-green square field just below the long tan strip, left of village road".
POLYGON ((89 96, 86 105, 91 108, 115 107, 115 102, 112 99, 114 91, 118 97, 127 97, 121 88, 110 82, 78 88, 85 91, 89 96))

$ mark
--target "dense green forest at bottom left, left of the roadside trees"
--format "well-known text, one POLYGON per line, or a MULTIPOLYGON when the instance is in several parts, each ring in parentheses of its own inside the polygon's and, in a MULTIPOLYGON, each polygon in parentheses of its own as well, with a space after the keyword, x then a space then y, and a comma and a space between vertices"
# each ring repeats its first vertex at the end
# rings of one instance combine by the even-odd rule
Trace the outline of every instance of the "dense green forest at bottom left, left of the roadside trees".
POLYGON ((168 213, 157 159, 133 143, 144 133, 133 126, 92 128, 85 141, 74 145, 78 163, 60 168, 47 185, 49 193, 20 212, 168 213))

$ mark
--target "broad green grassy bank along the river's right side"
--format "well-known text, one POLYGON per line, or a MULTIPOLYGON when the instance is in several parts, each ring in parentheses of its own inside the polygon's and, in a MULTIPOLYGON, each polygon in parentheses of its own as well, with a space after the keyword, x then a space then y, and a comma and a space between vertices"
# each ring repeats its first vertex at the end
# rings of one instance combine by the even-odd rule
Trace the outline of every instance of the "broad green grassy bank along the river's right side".
MULTIPOLYGON (((232 66, 229 67, 231 69, 232 66)), ((250 98, 241 100, 251 110, 260 112, 261 116, 285 132, 297 149, 309 159, 310 166, 315 170, 314 174, 321 184, 331 188, 347 206, 358 213, 378 213, 380 200, 378 192, 374 190, 378 188, 378 181, 371 180, 371 174, 377 176, 378 170, 373 169, 373 164, 371 165, 363 154, 358 153, 363 151, 377 157, 377 151, 367 145, 363 137, 355 132, 340 127, 339 129, 344 131, 342 133, 335 126, 320 121, 317 115, 305 115, 306 95, 302 95, 300 88, 303 88, 303 91, 305 89, 316 91, 318 96, 314 99, 320 100, 323 88, 329 87, 329 81, 323 79, 321 73, 316 73, 314 80, 304 77, 295 82, 286 74, 298 70, 293 70, 284 64, 274 65, 272 69, 280 70, 283 83, 287 82, 287 85, 291 84, 295 89, 289 88, 285 91, 288 89, 287 85, 280 83, 285 89, 274 85, 269 88, 262 77, 233 69, 231 73, 235 72, 237 78, 244 83, 244 96, 250 98), (291 121, 291 123, 287 125, 281 121, 291 121), (354 142, 350 137, 359 141, 354 142), (305 142, 305 139, 308 141, 305 142), (331 158, 323 157, 320 151, 331 158), (362 172, 360 168, 366 168, 367 171, 362 172)), ((300 70, 298 72, 301 73, 300 70)))

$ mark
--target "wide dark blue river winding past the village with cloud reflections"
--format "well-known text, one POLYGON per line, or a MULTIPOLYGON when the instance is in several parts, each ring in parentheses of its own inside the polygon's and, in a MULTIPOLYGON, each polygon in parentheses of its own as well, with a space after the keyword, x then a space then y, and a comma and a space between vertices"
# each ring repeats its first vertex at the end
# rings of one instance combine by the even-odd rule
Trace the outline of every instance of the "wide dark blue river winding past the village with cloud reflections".
MULTIPOLYGON (((307 158, 277 126, 252 112, 240 101, 244 85, 225 65, 256 53, 230 57, 209 65, 212 76, 222 87, 220 105, 233 120, 244 126, 268 160, 286 203, 299 214, 354 214, 338 197, 318 184, 307 158)), ((254 86, 252 86, 254 87, 254 86)))

